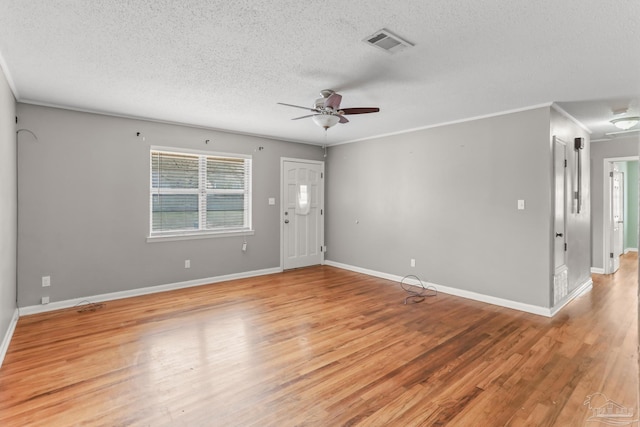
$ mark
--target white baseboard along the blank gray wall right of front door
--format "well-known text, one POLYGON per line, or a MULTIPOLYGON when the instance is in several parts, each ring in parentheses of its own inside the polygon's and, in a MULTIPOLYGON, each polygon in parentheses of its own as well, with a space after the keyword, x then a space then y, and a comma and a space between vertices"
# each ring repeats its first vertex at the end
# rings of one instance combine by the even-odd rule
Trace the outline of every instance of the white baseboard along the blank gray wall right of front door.
MULTIPOLYGON (((334 261, 325 261, 326 265, 330 265, 337 268, 342 268, 343 270, 355 271, 356 273, 367 274, 369 276, 380 277, 382 279, 392 280, 394 282, 400 282, 402 280, 401 276, 396 276, 394 274, 382 273, 379 271, 369 270, 366 268, 360 268, 353 265, 342 264, 334 261)), ((417 281, 407 280, 406 283, 410 284, 418 284, 417 281)), ((425 286, 430 285, 434 286, 438 292, 443 292, 445 294, 454 295, 457 297, 472 299, 474 301, 480 301, 487 304, 493 304, 500 307, 511 308, 514 310, 524 311, 526 313, 537 314, 539 316, 551 317, 553 314, 550 308, 540 307, 537 305, 525 304, 518 301, 512 301, 504 298, 492 297, 490 295, 479 294, 477 292, 466 291, 464 289, 451 288, 448 286, 438 285, 436 283, 425 283, 425 286)))

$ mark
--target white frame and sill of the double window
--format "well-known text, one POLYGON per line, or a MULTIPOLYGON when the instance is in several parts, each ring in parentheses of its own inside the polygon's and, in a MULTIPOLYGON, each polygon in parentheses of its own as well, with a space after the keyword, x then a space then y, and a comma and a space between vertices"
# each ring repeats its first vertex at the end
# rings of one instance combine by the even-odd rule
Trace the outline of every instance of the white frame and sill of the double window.
POLYGON ((149 205, 148 205, 148 228, 147 228, 147 242, 158 242, 158 241, 172 241, 172 240, 189 240, 189 239, 204 239, 204 238, 215 238, 215 237, 227 237, 227 236, 247 236, 253 235, 253 157, 251 155, 246 154, 238 154, 238 153, 225 153, 218 151, 204 151, 204 150, 193 150, 188 148, 176 148, 176 147, 165 147, 165 146, 151 146, 149 148, 149 182, 148 182, 148 197, 149 197, 149 205), (165 194, 191 194, 196 195, 198 197, 198 226, 199 228, 190 229, 190 230, 164 230, 164 231, 154 231, 153 230, 153 197, 154 195, 160 194, 158 188, 153 187, 153 156, 154 153, 166 153, 166 154, 175 154, 175 155, 185 155, 185 156, 197 156, 198 157, 198 188, 197 189, 180 189, 174 188, 169 189, 168 193, 165 194), (245 167, 247 173, 244 176, 244 186, 242 190, 229 190, 229 189, 210 189, 207 188, 207 180, 206 180, 206 165, 207 158, 219 158, 219 159, 234 159, 234 160, 243 160, 245 162, 245 167), (246 162, 248 161, 248 165, 246 162), (204 173, 203 170, 204 169, 204 173), (244 210, 244 225, 241 227, 216 227, 216 228, 206 228, 206 198, 209 195, 215 194, 243 194, 244 195, 244 206, 246 209, 244 210), (204 207, 204 211, 203 211, 204 207), (203 219, 205 220, 203 222, 203 219))

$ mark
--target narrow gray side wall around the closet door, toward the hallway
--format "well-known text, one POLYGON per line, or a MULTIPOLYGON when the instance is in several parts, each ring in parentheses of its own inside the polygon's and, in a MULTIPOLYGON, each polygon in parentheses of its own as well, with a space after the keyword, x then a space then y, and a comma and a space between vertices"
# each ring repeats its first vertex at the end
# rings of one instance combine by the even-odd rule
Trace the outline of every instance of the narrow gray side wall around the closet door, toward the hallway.
MULTIPOLYGON (((551 109, 551 136, 557 136, 567 143, 567 203, 565 217, 569 293, 591 279, 591 166, 589 156, 591 143, 589 133, 564 115, 551 109), (585 138, 585 146, 580 150, 582 161, 582 205, 580 212, 574 206, 572 193, 577 190, 578 152, 573 148, 574 138, 585 138)), ((553 294, 551 294, 551 297, 553 294)))

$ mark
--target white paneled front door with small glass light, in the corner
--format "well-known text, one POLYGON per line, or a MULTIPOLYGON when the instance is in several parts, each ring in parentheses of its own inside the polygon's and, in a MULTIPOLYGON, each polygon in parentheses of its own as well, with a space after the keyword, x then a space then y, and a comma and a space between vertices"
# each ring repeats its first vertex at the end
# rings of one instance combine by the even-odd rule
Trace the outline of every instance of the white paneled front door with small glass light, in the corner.
POLYGON ((282 163, 283 268, 324 262, 324 163, 282 163))

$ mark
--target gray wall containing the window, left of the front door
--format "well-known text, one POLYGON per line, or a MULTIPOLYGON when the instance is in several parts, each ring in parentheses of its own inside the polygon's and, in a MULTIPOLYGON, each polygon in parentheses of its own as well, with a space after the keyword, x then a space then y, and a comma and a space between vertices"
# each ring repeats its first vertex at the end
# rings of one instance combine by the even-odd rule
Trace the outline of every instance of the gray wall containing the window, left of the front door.
POLYGON ((311 145, 21 103, 17 113, 39 139, 25 135, 18 147, 21 307, 46 295, 54 302, 277 268, 280 158, 323 160, 311 145), (255 235, 246 253, 242 237, 146 242, 150 145, 253 155, 255 235), (50 288, 41 286, 45 275, 50 288))

